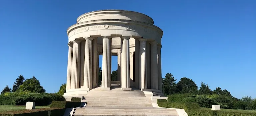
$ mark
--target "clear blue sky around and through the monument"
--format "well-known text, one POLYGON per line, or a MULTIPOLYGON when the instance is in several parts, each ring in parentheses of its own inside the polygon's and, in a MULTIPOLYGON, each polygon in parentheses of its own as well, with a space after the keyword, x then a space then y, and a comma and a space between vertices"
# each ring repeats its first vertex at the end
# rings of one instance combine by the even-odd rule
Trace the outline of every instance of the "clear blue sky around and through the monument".
MULTIPOLYGON (((0 89, 20 74, 33 75, 47 92, 66 83, 66 29, 78 16, 121 9, 150 16, 164 32, 162 77, 171 73, 212 90, 256 97, 255 0, 2 0, 0 89)), ((100 65, 101 65, 100 57, 100 65)), ((117 57, 112 56, 112 70, 117 57)))

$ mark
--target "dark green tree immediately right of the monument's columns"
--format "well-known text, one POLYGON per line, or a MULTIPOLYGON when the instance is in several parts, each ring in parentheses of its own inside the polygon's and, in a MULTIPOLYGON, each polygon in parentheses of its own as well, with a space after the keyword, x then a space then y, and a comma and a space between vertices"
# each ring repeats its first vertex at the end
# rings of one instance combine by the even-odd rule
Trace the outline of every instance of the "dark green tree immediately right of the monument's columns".
POLYGON ((173 94, 177 92, 177 85, 175 83, 176 79, 174 79, 173 75, 167 73, 165 78, 163 79, 163 93, 166 95, 173 94))

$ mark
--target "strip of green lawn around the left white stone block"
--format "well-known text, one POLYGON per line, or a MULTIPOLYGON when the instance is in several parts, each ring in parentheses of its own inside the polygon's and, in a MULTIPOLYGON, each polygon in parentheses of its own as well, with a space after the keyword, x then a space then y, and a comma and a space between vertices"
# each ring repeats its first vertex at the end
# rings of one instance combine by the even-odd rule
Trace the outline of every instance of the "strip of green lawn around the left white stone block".
MULTIPOLYGON (((36 106, 38 108, 49 108, 50 105, 46 106, 36 106)), ((26 106, 17 106, 17 105, 0 105, 0 112, 8 112, 8 111, 15 111, 15 110, 24 110, 26 106)))

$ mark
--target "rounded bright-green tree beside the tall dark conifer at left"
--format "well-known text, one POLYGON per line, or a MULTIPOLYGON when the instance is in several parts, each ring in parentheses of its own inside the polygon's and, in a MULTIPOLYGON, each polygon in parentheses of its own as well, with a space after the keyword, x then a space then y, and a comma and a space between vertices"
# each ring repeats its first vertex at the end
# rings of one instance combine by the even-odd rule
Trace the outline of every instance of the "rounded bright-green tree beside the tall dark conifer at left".
POLYGON ((37 92, 37 93, 44 93, 45 89, 40 85, 39 80, 33 76, 30 79, 27 79, 18 89, 17 91, 30 91, 30 92, 37 92))

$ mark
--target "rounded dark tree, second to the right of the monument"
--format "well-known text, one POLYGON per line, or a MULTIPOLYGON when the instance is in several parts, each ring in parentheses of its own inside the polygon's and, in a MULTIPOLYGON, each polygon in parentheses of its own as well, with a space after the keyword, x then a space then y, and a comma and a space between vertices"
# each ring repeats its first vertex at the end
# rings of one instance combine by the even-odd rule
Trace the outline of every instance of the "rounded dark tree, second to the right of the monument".
POLYGON ((193 93, 198 89, 195 82, 186 77, 181 78, 177 86, 180 93, 193 93))

